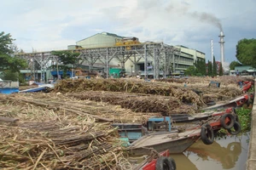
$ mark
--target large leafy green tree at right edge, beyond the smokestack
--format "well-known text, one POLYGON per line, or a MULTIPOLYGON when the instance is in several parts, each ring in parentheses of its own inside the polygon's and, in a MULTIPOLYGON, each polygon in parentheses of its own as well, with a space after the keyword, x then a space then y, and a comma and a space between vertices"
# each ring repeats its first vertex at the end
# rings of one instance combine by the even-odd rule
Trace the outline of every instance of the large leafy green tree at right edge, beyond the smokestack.
POLYGON ((256 39, 241 39, 236 45, 236 59, 241 65, 256 68, 256 39))

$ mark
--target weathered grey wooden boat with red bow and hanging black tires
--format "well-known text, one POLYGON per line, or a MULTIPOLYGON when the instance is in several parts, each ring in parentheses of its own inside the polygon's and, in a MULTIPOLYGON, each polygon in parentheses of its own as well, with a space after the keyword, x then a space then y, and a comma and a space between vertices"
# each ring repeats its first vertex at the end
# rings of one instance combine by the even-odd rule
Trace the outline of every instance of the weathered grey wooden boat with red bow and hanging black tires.
POLYGON ((190 145, 199 139, 204 144, 212 144, 214 141, 213 131, 218 131, 221 127, 226 128, 232 134, 240 133, 241 126, 235 119, 233 111, 218 112, 204 123, 202 122, 195 127, 189 127, 183 133, 166 131, 148 133, 134 141, 127 147, 127 150, 131 156, 147 155, 150 149, 158 152, 169 150, 171 154, 183 153, 184 150, 187 150, 190 145), (235 132, 230 130, 232 127, 235 128, 235 132))

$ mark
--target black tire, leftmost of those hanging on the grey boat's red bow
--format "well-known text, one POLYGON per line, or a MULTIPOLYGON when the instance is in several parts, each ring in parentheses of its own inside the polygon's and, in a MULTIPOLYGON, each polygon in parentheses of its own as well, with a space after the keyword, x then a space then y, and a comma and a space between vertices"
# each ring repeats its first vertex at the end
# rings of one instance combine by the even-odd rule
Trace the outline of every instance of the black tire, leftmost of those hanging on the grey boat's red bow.
POLYGON ((201 140, 204 144, 212 144, 214 141, 214 133, 210 124, 201 126, 201 140))

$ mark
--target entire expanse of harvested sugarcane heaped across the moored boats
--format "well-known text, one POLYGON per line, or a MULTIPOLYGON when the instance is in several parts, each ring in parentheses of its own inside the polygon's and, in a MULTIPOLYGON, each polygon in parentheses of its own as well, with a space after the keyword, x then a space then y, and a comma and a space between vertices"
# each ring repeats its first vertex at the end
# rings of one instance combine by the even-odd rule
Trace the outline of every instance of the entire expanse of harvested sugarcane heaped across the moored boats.
POLYGON ((132 169, 111 123, 194 114, 206 99, 241 94, 233 79, 221 88, 209 88, 209 81, 62 80, 49 94, 0 94, 0 167, 132 169))

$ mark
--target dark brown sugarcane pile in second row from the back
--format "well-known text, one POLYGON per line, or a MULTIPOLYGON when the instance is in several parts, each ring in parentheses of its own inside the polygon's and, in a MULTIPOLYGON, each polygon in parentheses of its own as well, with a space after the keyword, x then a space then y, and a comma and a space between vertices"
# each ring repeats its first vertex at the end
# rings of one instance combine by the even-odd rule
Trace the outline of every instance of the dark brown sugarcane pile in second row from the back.
POLYGON ((106 102, 111 105, 121 105, 122 108, 135 112, 154 112, 161 116, 171 116, 177 113, 193 115, 195 108, 184 105, 177 98, 150 94, 129 94, 118 92, 84 91, 81 93, 67 94, 68 97, 82 100, 106 102))

